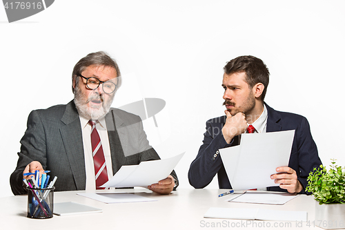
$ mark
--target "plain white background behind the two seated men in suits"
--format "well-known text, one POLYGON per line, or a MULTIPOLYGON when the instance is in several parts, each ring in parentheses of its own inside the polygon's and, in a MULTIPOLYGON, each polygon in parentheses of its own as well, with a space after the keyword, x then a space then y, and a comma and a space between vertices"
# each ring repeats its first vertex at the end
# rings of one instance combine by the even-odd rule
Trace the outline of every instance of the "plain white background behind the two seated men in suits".
MULTIPOLYGON (((71 73, 89 52, 114 57, 123 85, 113 106, 144 97, 166 101, 145 121, 161 157, 186 151, 176 167, 181 187, 207 119, 224 114, 223 66, 254 55, 270 70, 266 102, 308 118, 322 162, 345 165, 345 1, 55 1, 8 23, 0 7, 1 190, 33 109, 68 103, 71 73)), ((217 188, 217 178, 208 188, 217 188)))

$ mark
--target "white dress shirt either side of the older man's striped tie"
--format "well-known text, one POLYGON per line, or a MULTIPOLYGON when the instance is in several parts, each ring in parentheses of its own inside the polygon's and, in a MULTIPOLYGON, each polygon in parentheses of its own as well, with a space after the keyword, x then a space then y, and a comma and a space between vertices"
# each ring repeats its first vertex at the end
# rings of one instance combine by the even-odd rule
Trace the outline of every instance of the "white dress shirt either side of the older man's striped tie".
MULTIPOLYGON (((83 148, 85 157, 85 171, 86 171, 86 190, 95 190, 95 166, 93 164, 92 146, 91 146, 91 128, 88 124, 88 119, 80 118, 81 130, 83 135, 83 148)), ((106 119, 103 117, 96 122, 96 129, 101 138, 104 157, 106 159, 106 167, 108 171, 108 178, 112 178, 112 163, 110 155, 110 145, 108 131, 106 129, 106 119)))

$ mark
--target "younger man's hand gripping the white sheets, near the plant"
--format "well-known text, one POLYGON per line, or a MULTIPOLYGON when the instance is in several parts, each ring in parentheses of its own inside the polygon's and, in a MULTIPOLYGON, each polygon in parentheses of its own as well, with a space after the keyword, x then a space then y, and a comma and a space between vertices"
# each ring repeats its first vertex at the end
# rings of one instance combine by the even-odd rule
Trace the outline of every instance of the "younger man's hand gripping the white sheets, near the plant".
POLYGON ((301 182, 297 180, 295 170, 291 169, 290 167, 278 167, 276 171, 278 173, 271 175, 270 178, 275 180, 275 184, 279 184, 281 189, 286 189, 289 193, 299 193, 302 191, 303 186, 301 182))

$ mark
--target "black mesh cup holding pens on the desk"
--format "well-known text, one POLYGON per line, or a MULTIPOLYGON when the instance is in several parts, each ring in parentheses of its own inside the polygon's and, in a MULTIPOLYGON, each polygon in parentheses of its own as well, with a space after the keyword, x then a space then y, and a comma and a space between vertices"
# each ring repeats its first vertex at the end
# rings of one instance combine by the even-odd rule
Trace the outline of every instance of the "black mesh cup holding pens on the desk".
POLYGON ((28 218, 52 218, 54 189, 28 189, 28 218))

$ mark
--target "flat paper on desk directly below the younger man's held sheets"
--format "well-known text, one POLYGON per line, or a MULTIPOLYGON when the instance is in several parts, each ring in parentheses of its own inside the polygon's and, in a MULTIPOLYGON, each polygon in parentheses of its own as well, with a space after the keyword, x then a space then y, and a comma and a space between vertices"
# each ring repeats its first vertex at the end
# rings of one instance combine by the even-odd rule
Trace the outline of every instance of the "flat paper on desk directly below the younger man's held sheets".
POLYGON ((230 198, 229 202, 253 203, 253 204, 285 204, 293 198, 297 198, 296 194, 291 193, 244 193, 236 198, 230 198))

